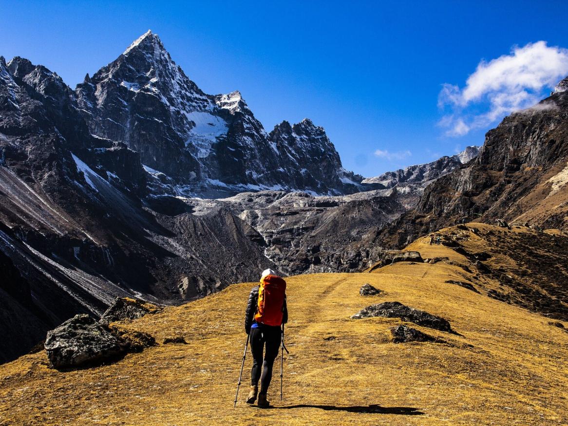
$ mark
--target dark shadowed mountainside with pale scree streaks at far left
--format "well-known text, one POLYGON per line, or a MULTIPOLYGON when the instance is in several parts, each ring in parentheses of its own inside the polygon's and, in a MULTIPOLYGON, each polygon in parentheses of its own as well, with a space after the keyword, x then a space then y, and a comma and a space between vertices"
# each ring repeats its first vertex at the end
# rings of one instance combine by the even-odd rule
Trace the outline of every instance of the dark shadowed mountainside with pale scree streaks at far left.
POLYGON ((116 296, 176 303, 276 268, 226 208, 147 197, 140 154, 90 135, 74 106, 55 73, 0 57, 3 360, 116 296))

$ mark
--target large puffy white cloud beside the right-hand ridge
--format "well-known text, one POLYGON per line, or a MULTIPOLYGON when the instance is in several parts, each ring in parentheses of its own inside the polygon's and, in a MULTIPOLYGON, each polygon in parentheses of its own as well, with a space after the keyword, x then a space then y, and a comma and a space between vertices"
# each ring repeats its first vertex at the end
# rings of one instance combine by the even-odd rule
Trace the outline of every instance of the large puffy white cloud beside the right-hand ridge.
POLYGON ((513 47, 510 55, 482 60, 460 88, 445 83, 438 107, 445 110, 438 125, 446 136, 463 136, 487 127, 513 111, 536 104, 568 74, 568 49, 546 41, 513 47))

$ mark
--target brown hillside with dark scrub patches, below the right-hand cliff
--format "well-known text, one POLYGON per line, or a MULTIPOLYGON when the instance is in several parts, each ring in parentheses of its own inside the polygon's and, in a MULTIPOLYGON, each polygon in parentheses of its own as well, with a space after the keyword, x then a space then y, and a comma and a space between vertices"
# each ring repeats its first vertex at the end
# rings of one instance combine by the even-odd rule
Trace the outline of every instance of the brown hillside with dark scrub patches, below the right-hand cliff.
POLYGON ((431 233, 407 250, 460 266, 453 281, 491 298, 568 320, 568 233, 468 223, 431 233), (431 235, 441 245, 429 245, 431 235))

